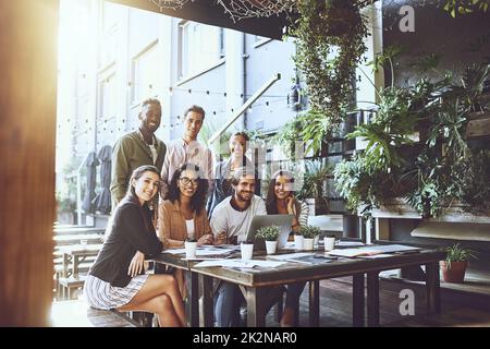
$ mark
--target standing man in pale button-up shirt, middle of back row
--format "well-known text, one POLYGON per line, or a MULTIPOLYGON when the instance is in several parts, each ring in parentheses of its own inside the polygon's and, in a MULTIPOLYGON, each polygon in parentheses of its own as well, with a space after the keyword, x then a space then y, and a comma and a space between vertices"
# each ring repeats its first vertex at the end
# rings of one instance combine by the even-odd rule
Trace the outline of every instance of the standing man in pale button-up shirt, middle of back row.
POLYGON ((209 181, 209 190, 213 184, 213 159, 212 153, 197 141, 197 135, 203 128, 206 112, 199 106, 189 107, 184 113, 184 135, 173 141, 167 148, 167 155, 161 169, 160 195, 167 197, 168 184, 175 170, 182 164, 192 163, 197 165, 205 178, 209 181))

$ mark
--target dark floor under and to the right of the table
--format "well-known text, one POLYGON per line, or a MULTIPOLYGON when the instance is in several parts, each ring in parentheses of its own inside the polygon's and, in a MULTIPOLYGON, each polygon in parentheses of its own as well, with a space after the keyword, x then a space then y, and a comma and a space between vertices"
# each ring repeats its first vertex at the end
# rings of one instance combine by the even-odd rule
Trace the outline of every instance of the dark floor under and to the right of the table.
MULTIPOLYGON (((299 303, 299 326, 308 326, 308 289, 299 303)), ((475 296, 454 289, 441 288, 442 312, 426 315, 425 286, 400 279, 380 279, 381 326, 487 326, 490 327, 490 297, 475 296), (415 315, 403 316, 400 291, 411 289, 415 294, 415 315)), ((275 313, 270 311, 267 326, 277 327, 275 313)), ((320 326, 352 326, 352 278, 343 277, 320 281, 320 326)))

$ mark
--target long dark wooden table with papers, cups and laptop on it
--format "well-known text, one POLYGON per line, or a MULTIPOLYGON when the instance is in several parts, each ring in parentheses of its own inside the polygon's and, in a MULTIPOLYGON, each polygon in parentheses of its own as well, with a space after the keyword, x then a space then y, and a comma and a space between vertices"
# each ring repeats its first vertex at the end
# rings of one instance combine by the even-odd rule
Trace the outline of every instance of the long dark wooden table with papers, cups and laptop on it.
MULTIPOLYGON (((291 252, 291 251, 290 251, 291 252)), ((333 277, 353 276, 353 325, 365 325, 365 275, 367 276, 367 324, 379 325, 379 273, 406 266, 425 265, 427 273, 427 311, 440 312, 439 261, 445 252, 421 250, 417 253, 393 254, 377 260, 342 258, 321 265, 286 263, 277 268, 238 269, 228 267, 195 267, 196 263, 180 260, 180 255, 162 253, 154 261, 167 265, 186 268, 191 272, 191 326, 212 326, 213 292, 212 279, 221 279, 241 286, 247 301, 247 325, 265 326, 266 299, 269 290, 279 285, 296 281, 309 281, 309 321, 310 326, 319 325, 319 280, 333 277), (198 317, 198 286, 203 291, 203 309, 198 317)), ((265 260, 266 255, 254 256, 265 260)))

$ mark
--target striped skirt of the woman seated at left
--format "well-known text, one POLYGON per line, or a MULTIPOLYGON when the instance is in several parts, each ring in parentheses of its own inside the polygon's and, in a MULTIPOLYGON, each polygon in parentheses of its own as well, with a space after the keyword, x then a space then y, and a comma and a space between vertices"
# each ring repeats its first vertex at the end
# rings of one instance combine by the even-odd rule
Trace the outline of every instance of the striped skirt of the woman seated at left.
POLYGON ((133 299, 145 285, 148 276, 148 274, 137 275, 131 279, 126 287, 115 287, 96 276, 87 275, 84 296, 93 308, 103 310, 120 308, 133 299))

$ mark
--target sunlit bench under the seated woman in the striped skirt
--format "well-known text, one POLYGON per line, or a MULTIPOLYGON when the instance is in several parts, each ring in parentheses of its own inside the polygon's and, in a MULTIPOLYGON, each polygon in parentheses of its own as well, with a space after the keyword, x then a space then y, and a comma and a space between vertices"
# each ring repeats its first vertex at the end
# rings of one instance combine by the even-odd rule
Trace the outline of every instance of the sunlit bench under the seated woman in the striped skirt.
POLYGON ((99 310, 85 300, 53 302, 52 327, 139 327, 139 324, 117 310, 99 310))

